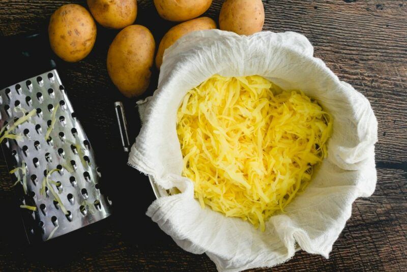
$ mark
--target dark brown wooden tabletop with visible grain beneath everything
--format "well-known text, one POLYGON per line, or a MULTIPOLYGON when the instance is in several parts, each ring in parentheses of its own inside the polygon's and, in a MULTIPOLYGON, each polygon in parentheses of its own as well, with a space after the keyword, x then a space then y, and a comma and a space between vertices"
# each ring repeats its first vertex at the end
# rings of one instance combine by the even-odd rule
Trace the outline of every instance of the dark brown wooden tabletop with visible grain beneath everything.
MULTIPOLYGON (((136 23, 148 26, 158 44, 173 23, 156 15, 152 1, 138 2, 136 23)), ((214 0, 206 14, 217 20, 222 2, 214 0)), ((3 0, 0 36, 43 32, 52 12, 67 3, 86 6, 76 0, 3 0)), ((315 56, 365 95, 379 120, 376 191, 355 201, 330 258, 300 251, 273 270, 407 271, 407 2, 269 0, 264 5, 264 30, 307 36, 315 56)), ((76 64, 59 63, 59 70, 98 160, 124 164, 113 102, 125 102, 133 141, 140 124, 135 99, 122 97, 107 76, 106 53, 115 34, 98 26, 91 54, 76 64)), ((144 96, 153 93, 157 74, 144 96)), ((0 270, 215 270, 206 255, 184 252, 144 215, 154 199, 145 176, 126 169, 108 183, 119 206, 113 216, 50 243, 28 246, 20 236, 15 196, 0 159, 0 270)))

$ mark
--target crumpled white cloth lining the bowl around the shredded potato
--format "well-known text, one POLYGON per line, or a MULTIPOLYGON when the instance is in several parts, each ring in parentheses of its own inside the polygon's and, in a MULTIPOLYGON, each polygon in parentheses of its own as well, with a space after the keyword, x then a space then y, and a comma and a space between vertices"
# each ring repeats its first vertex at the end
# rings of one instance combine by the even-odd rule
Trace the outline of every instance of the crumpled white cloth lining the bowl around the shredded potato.
POLYGON ((184 250, 206 253, 219 271, 271 267, 292 258, 296 247, 328 258, 354 200, 374 191, 377 121, 370 104, 313 57, 312 45, 300 34, 191 33, 165 51, 158 89, 138 107, 142 128, 129 164, 164 189, 182 192, 157 199, 147 215, 184 250), (268 220, 265 232, 202 209, 191 180, 181 176, 176 113, 187 91, 213 74, 260 75, 283 89, 301 89, 334 118, 328 158, 286 212, 268 220))

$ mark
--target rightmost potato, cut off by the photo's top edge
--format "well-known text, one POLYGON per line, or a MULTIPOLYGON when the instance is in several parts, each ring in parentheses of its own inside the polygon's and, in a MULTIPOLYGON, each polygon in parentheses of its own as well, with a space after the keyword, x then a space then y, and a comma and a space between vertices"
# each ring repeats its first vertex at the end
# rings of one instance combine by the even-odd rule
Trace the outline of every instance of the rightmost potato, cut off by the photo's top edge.
POLYGON ((219 15, 219 28, 239 35, 260 32, 264 24, 261 0, 226 0, 219 15))

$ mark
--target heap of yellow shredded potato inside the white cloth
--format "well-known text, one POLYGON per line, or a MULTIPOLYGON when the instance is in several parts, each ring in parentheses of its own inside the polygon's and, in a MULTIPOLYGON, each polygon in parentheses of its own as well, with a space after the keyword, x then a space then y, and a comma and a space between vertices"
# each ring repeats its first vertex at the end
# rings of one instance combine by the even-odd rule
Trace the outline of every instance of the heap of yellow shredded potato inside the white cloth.
POLYGON ((262 231, 307 186, 332 131, 315 101, 260 76, 215 75, 187 93, 177 117, 183 175, 200 205, 262 231))

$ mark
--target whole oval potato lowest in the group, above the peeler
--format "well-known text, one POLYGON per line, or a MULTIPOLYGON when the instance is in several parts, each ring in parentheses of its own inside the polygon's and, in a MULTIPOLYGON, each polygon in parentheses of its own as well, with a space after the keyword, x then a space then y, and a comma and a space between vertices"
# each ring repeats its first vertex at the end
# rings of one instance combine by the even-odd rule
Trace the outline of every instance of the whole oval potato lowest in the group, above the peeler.
POLYGON ((114 38, 107 52, 107 72, 126 97, 141 95, 150 84, 156 44, 147 27, 129 25, 114 38))

